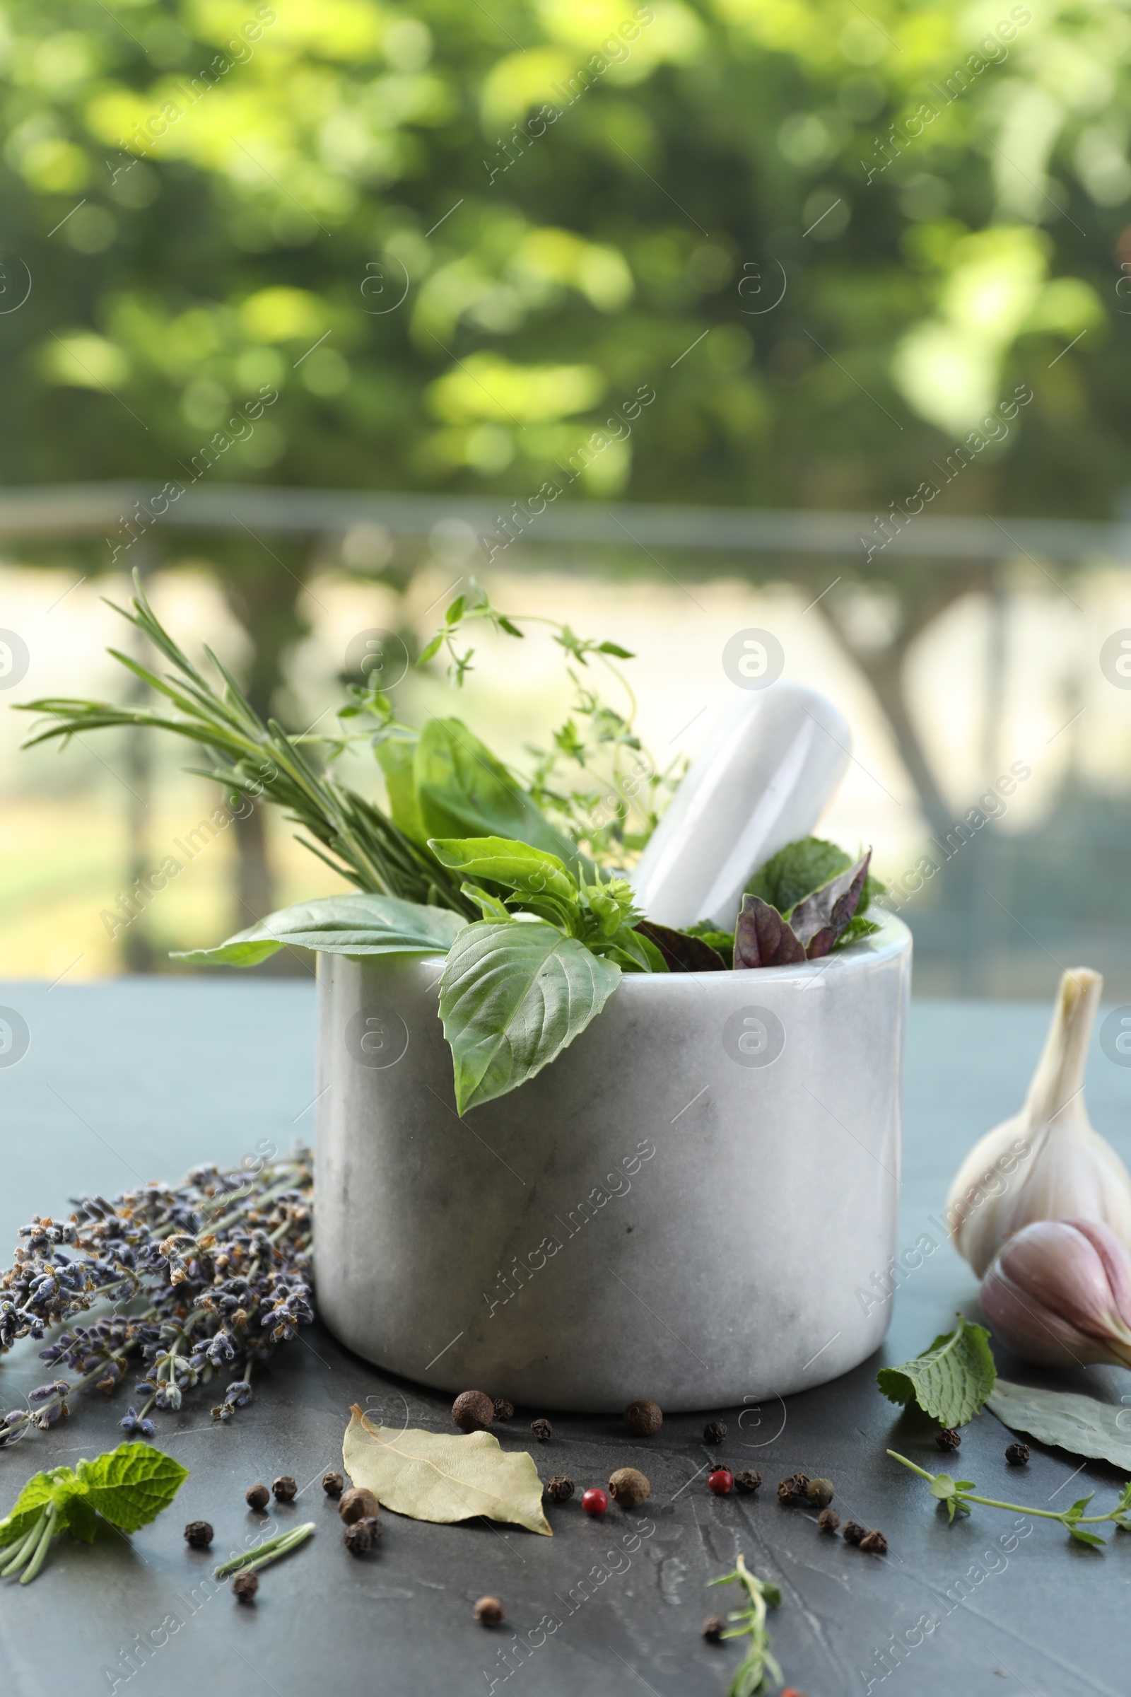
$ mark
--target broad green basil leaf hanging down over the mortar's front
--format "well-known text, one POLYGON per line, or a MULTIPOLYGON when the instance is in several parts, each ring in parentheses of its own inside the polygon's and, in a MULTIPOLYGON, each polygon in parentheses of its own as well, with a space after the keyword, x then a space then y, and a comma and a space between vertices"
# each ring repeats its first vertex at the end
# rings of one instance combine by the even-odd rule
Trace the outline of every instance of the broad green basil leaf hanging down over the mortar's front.
POLYGON ((549 1066, 593 1020, 621 969, 541 920, 460 932, 439 981, 460 1113, 549 1066))

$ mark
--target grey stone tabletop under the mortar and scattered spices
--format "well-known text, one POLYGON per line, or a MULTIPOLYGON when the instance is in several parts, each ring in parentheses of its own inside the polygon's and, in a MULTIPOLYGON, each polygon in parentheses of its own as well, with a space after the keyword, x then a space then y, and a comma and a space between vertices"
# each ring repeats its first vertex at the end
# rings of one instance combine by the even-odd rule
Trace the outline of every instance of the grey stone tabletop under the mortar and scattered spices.
MULTIPOLYGON (((261 1139, 288 1147, 312 1134, 314 991, 305 983, 5 984, 0 1005, 31 1030, 27 1056, 0 1067, 3 1266, 19 1224, 63 1210, 78 1190, 180 1178, 202 1159, 234 1164, 261 1139)), ((1045 1023, 1046 1010, 1034 1005, 914 1006, 899 1247, 921 1264, 902 1278, 875 1359, 787 1403, 712 1410, 729 1424, 721 1451, 704 1446, 702 1419, 692 1415, 666 1420, 651 1441, 604 1417, 554 1417, 553 1441, 532 1446, 543 1475, 570 1473, 580 1488, 638 1465, 653 1485, 646 1519, 612 1507, 590 1521, 575 1498, 553 1510, 548 1539, 387 1515, 380 1553, 351 1558, 319 1485, 327 1466, 341 1465, 349 1405, 390 1424, 404 1424, 407 1410, 432 1431, 449 1429, 449 1412, 446 1400, 375 1371, 314 1325, 278 1353, 254 1403, 229 1425, 209 1417, 207 1392, 161 1420, 158 1441, 192 1476, 158 1522, 129 1543, 63 1539, 34 1585, 0 1583, 0 1692, 722 1697, 739 1653, 705 1644, 700 1626, 731 1592, 705 1585, 743 1551, 782 1588, 773 1646, 787 1683, 807 1697, 1124 1697, 1131 1539, 1094 1553, 1050 1522, 1022 1522, 1017 1536, 1009 1515, 987 1509, 948 1527, 926 1485, 885 1456, 892 1444, 939 1470, 946 1463, 929 1429, 875 1388, 877 1366, 922 1349, 958 1305, 975 1300, 938 1215, 963 1151, 1019 1105, 1045 1023), (714 1454, 758 1468, 760 1495, 712 1497, 704 1468, 714 1454), (807 1512, 778 1505, 773 1487, 799 1468, 829 1475, 841 1514, 882 1527, 890 1554, 865 1556, 819 1534, 807 1512), (244 1488, 281 1471, 304 1492, 293 1509, 276 1510, 278 1522, 300 1515, 319 1531, 268 1570, 253 1609, 241 1607, 226 1587, 202 1585, 212 1560, 185 1546, 181 1527, 190 1517, 212 1521, 227 1553, 248 1536, 244 1488), (471 1619, 485 1592, 507 1607, 499 1633, 471 1619), (539 1626, 544 1617, 553 1631, 539 1626)), ((1131 1069, 1112 1066, 1099 1045, 1089 1101, 1097 1129, 1131 1157, 1131 1069)), ((834 1205, 819 1171, 805 1195, 790 1198, 804 1232, 819 1232, 834 1205)), ((44 1376, 27 1351, 19 1346, 0 1368, 14 1393, 44 1376)), ((1078 1386, 1131 1402, 1131 1376, 1116 1369, 1092 1368, 1078 1386)), ((120 1412, 117 1398, 88 1398, 49 1434, 0 1453, 0 1509, 32 1471, 112 1448, 120 1412)), ((505 1448, 524 1444, 536 1414, 553 1417, 521 1409, 499 1429, 505 1448)), ((1007 1441, 983 1414, 967 1431, 958 1471, 989 1495, 1034 1507, 1060 1507, 1090 1488, 1111 1500, 1112 1468, 1078 1470, 1073 1458, 1034 1446, 1026 1471, 1007 1470, 1007 1441)))

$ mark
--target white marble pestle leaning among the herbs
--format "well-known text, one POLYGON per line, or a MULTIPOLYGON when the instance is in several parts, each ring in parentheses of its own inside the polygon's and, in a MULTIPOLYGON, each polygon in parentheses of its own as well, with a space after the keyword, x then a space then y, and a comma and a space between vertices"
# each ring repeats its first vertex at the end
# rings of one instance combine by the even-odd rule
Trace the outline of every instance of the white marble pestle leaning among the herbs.
POLYGON ((656 925, 712 920, 734 930, 749 877, 833 798, 851 731, 804 684, 744 692, 695 757, 636 871, 636 905, 656 925))

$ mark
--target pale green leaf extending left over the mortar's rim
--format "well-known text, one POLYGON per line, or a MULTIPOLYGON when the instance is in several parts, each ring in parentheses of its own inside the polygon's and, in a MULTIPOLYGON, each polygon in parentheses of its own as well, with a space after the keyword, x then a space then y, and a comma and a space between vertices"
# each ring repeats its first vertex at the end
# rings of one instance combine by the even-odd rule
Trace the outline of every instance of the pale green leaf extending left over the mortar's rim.
POLYGON ((193 966, 258 966, 276 949, 320 949, 324 954, 448 954, 468 921, 449 908, 426 908, 397 896, 363 891, 300 901, 237 932, 217 949, 188 949, 173 961, 193 966))

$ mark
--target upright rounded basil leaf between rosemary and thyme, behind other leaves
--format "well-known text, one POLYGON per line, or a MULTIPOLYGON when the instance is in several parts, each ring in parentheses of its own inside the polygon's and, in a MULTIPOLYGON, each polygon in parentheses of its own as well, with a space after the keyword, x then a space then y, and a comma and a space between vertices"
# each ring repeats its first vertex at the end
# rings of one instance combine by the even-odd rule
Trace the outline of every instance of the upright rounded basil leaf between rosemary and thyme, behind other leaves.
POLYGON ((412 770, 427 837, 517 838, 570 865, 588 865, 460 720, 429 720, 412 770))

